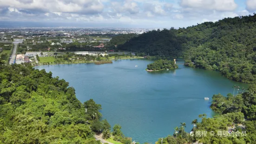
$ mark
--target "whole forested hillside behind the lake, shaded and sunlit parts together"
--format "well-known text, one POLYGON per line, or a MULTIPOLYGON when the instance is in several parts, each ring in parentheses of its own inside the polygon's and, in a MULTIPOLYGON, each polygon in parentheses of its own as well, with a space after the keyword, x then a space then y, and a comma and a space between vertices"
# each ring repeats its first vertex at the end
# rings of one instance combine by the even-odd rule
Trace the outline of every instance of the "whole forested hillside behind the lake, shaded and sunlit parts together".
POLYGON ((256 79, 256 14, 143 33, 118 50, 181 56, 186 63, 194 63, 189 66, 218 70, 229 79, 252 83, 256 79))

